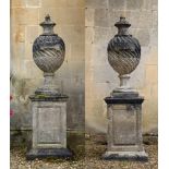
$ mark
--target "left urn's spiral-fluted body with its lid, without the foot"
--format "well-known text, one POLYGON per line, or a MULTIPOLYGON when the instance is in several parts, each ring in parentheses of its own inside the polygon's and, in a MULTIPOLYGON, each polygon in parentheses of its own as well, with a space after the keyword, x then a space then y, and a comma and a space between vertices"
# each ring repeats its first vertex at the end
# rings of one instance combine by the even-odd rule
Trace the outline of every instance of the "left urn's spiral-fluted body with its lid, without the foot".
POLYGON ((53 33, 56 23, 47 15, 40 23, 44 33, 33 45, 33 58, 36 65, 45 73, 55 73, 64 61, 65 45, 61 37, 53 33))

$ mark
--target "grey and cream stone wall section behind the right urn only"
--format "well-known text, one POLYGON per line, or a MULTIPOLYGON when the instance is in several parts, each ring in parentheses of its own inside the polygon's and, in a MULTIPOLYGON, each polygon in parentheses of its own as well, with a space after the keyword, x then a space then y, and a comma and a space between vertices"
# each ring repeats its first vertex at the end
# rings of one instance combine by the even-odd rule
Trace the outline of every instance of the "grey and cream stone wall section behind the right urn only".
POLYGON ((130 83, 145 97, 144 133, 157 134, 157 0, 86 0, 85 4, 85 119, 88 130, 106 132, 104 98, 119 85, 107 60, 108 41, 117 34, 120 15, 132 24, 130 33, 142 46, 142 59, 130 83))

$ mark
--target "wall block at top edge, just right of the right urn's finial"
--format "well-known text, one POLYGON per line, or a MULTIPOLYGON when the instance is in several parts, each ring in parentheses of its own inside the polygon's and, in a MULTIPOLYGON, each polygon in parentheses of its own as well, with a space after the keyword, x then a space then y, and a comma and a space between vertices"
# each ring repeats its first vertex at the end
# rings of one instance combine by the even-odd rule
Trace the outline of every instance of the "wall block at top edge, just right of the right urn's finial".
POLYGON ((144 4, 144 0, 128 0, 126 9, 128 10, 142 9, 143 4, 144 4))

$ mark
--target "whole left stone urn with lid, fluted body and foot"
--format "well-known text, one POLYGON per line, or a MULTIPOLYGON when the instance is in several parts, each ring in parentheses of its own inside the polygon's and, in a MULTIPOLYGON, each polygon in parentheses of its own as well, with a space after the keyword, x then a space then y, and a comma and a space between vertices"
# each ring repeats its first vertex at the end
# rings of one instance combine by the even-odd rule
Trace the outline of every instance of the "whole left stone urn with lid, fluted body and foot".
POLYGON ((40 23, 44 33, 39 35, 33 45, 33 58, 36 65, 44 72, 45 82, 36 89, 39 95, 59 95, 55 85, 55 72, 62 65, 65 55, 65 45, 61 37, 53 32, 56 23, 49 15, 40 23))

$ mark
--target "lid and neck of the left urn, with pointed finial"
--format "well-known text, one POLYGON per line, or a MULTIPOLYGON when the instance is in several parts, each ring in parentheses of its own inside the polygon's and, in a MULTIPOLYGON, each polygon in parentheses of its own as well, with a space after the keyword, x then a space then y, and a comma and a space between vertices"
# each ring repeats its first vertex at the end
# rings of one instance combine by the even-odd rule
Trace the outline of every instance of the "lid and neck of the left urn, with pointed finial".
POLYGON ((39 24, 44 28, 43 35, 53 35, 53 27, 56 23, 51 21, 50 15, 45 16, 45 21, 39 24))

